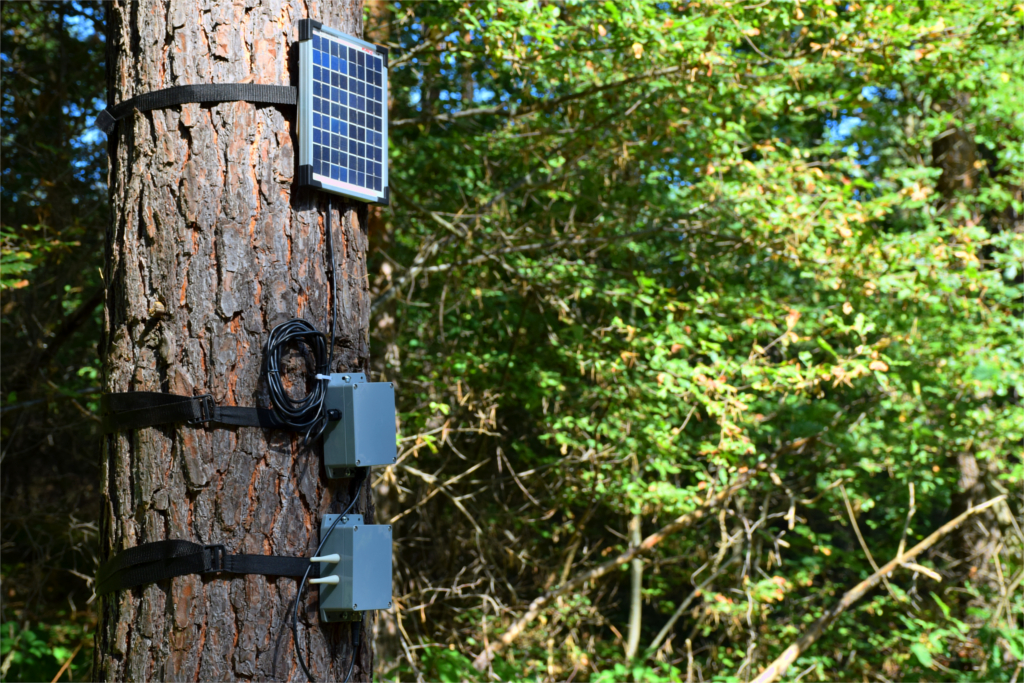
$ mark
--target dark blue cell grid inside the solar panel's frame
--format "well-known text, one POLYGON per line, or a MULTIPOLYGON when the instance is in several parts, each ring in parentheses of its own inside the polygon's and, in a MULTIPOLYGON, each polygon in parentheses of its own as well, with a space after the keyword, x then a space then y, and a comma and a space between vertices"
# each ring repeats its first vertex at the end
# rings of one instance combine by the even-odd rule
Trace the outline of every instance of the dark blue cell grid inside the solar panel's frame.
POLYGON ((380 193, 386 183, 384 62, 312 33, 312 172, 380 193))

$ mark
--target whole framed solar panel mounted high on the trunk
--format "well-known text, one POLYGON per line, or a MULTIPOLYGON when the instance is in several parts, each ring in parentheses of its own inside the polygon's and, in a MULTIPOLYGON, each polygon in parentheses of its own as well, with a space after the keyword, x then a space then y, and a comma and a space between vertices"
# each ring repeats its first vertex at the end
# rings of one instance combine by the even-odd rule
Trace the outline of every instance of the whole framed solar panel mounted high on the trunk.
POLYGON ((301 185, 387 204, 387 48, 299 27, 301 185))

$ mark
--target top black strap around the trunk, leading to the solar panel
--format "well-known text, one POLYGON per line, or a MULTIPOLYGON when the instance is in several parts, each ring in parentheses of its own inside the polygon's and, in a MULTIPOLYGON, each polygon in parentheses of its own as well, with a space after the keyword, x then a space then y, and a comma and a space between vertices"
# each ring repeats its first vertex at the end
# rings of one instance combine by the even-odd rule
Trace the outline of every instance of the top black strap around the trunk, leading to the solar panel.
POLYGON ((96 128, 110 134, 118 121, 132 110, 148 112, 188 102, 260 102, 262 104, 295 104, 298 90, 290 85, 263 85, 260 83, 204 83, 177 85, 135 95, 127 101, 109 106, 96 117, 96 128))

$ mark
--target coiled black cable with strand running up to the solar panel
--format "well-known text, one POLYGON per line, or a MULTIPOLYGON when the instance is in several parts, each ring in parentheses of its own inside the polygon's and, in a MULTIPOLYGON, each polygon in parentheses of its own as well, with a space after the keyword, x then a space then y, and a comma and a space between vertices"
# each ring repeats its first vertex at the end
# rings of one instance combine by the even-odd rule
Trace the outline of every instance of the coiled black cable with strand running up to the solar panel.
POLYGON ((270 331, 270 336, 263 346, 263 370, 266 373, 267 390, 274 413, 290 429, 305 432, 304 444, 316 439, 327 428, 327 385, 330 381, 331 368, 334 365, 334 344, 338 327, 338 284, 334 263, 334 238, 331 230, 331 203, 328 201, 326 232, 327 232, 327 276, 331 281, 331 342, 309 323, 301 318, 293 318, 282 323, 270 331), (298 342, 303 342, 314 356, 316 365, 316 383, 312 391, 302 398, 292 398, 285 390, 281 381, 282 357, 286 348, 298 342))

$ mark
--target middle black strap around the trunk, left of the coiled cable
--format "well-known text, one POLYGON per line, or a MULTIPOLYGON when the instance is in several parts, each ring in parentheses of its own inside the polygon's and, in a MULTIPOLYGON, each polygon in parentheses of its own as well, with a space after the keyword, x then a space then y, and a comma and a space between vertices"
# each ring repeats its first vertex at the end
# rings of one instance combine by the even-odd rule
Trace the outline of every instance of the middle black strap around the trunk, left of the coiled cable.
POLYGON ((108 393, 102 397, 103 432, 141 429, 174 422, 215 422, 237 427, 282 429, 287 425, 268 408, 217 405, 213 396, 180 396, 158 391, 108 393))

